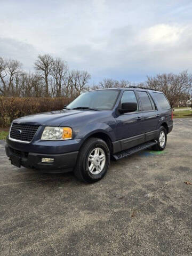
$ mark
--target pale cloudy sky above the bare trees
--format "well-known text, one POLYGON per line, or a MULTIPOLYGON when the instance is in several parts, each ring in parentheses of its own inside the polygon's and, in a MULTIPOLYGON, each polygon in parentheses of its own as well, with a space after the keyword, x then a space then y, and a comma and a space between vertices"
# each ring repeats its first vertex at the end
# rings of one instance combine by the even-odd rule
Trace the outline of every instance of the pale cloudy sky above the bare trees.
POLYGON ((33 70, 50 53, 73 69, 140 82, 192 72, 192 1, 0 0, 0 56, 33 70))

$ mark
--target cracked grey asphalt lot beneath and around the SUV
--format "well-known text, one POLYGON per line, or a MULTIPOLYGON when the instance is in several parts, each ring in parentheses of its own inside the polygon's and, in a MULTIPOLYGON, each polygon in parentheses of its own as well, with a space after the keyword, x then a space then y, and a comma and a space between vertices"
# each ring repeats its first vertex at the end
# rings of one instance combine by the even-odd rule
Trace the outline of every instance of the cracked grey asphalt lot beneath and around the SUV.
POLYGON ((192 119, 163 153, 111 162, 101 181, 10 164, 0 141, 0 255, 192 255, 192 119))

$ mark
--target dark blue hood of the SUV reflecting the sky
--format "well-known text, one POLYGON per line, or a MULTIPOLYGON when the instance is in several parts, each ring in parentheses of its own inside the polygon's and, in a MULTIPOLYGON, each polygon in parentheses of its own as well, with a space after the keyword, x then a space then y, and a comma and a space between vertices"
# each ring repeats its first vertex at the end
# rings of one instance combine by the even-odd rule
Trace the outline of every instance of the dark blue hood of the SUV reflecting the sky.
POLYGON ((95 115, 100 111, 94 110, 58 110, 35 115, 23 116, 15 119, 13 123, 17 124, 33 124, 42 126, 60 126, 61 123, 68 121, 71 118, 87 117, 95 115))

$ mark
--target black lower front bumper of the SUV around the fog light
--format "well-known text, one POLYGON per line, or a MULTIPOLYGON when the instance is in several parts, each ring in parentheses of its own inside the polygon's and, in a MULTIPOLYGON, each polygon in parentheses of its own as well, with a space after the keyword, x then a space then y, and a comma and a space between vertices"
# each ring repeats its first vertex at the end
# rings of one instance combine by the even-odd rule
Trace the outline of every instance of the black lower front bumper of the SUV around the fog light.
POLYGON ((6 144, 6 155, 16 155, 20 157, 21 165, 30 169, 41 170, 43 172, 68 172, 72 171, 77 160, 78 151, 73 151, 65 154, 42 154, 30 153, 14 149, 6 144), (42 163, 42 157, 54 158, 53 163, 42 163))

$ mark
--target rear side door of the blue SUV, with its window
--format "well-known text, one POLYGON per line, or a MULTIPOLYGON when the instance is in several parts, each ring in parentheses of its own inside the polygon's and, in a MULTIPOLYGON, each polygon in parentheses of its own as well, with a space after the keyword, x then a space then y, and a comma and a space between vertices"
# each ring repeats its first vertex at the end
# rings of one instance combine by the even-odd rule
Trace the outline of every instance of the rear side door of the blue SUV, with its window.
POLYGON ((141 101, 143 114, 143 131, 145 132, 145 141, 153 140, 158 134, 158 123, 160 120, 160 113, 155 105, 153 98, 147 91, 137 91, 141 101))

